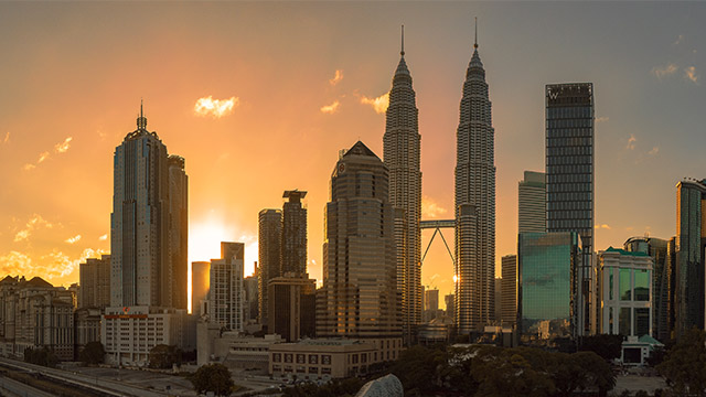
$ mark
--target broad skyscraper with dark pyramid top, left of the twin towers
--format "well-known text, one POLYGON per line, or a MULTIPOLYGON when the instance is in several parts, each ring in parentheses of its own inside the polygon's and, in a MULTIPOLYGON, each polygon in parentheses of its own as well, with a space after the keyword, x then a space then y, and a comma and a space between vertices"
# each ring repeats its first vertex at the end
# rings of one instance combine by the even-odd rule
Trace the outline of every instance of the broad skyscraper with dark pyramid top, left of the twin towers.
POLYGON ((359 141, 338 161, 330 192, 317 336, 399 339, 387 167, 359 141))

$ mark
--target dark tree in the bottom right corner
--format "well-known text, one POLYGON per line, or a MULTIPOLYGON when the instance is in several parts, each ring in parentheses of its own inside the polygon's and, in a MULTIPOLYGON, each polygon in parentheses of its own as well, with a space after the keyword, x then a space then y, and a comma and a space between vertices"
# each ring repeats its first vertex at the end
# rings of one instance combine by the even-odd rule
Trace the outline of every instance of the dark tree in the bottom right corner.
POLYGON ((677 395, 705 396, 706 332, 686 332, 656 368, 677 395))

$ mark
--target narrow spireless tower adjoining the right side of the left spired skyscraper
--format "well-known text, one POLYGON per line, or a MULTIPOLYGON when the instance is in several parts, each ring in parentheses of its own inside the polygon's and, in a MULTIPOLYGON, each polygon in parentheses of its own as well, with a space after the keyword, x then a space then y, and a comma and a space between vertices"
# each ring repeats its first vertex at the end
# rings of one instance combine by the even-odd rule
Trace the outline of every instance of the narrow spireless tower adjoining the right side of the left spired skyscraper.
POLYGON ((189 304, 189 176, 185 161, 170 155, 169 165, 169 253, 172 262, 172 307, 189 304))

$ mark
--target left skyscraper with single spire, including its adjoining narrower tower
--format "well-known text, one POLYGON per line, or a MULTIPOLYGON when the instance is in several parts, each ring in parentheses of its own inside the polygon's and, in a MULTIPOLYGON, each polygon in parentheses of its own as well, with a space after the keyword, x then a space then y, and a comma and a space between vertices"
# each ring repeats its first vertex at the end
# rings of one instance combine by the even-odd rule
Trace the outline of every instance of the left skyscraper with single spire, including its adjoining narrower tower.
POLYGON ((186 292, 180 290, 186 286, 188 272, 186 175, 183 159, 176 159, 172 160, 170 172, 167 147, 157 132, 147 130, 147 118, 140 107, 137 130, 128 133, 115 150, 111 307, 171 308, 179 303, 186 308, 183 300, 186 292), (174 181, 170 175, 174 175, 174 181))

